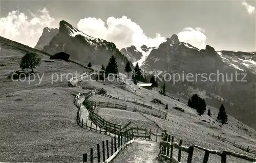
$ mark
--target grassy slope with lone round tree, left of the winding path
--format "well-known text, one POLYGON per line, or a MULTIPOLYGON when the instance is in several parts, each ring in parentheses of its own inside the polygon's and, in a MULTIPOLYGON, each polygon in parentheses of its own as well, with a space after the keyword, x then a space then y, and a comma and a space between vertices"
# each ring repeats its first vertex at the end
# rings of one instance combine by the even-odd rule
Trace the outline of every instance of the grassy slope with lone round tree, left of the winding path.
MULTIPOLYGON (((85 69, 71 62, 49 59, 47 53, 0 38, 0 161, 1 162, 81 162, 81 151, 107 139, 94 132, 84 132, 76 125, 74 95, 83 92, 69 88, 68 79, 52 82, 52 74, 75 74, 85 69), (19 70, 19 60, 26 51, 41 58, 36 73, 42 77, 28 83, 12 82, 7 76, 19 70), (38 85, 39 84, 39 85, 38 85), (84 143, 86 141, 86 143, 84 143)), ((25 78, 22 78, 25 79, 25 78)), ((33 78, 31 77, 31 80, 33 78)), ((53 78, 56 79, 56 76, 53 78)), ((96 151, 95 151, 96 152, 96 151)))

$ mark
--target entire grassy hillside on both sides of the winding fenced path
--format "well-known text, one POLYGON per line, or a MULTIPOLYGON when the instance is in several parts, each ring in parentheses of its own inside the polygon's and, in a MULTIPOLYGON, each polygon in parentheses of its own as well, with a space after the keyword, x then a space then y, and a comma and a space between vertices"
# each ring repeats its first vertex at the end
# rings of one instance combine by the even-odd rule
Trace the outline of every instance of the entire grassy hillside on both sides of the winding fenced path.
MULTIPOLYGON (((1 161, 81 162, 81 153, 90 151, 90 148, 95 148, 95 144, 109 139, 107 135, 84 130, 76 124, 77 107, 73 104, 74 95, 78 92, 86 93, 88 90, 69 87, 68 81, 72 75, 64 75, 65 77, 62 80, 59 78, 56 82, 56 78, 54 78, 53 82, 52 74, 75 74, 76 72, 81 74, 90 70, 72 62, 60 60, 45 62, 49 58, 47 53, 15 42, 10 46, 7 44, 10 40, 3 38, 0 41, 0 71, 4 72, 1 73, 0 78, 0 112, 2 115, 0 121, 1 129, 5 131, 0 137, 0 148, 3 149, 3 154, 0 156, 1 161), (19 70, 19 60, 27 50, 35 51, 42 58, 40 67, 36 69, 36 74, 40 77, 43 76, 43 78, 42 80, 36 78, 30 84, 28 78, 24 82, 13 82, 8 78, 8 75, 19 70)), ((98 69, 98 66, 94 67, 98 69)), ((250 146, 250 148, 256 149, 256 131, 231 116, 228 116, 228 124, 220 126, 220 123, 216 121, 218 108, 207 106, 213 113, 212 117, 207 115, 198 116, 195 110, 182 103, 181 100, 160 95, 158 88, 153 90, 140 88, 121 73, 118 80, 114 79, 112 82, 110 80, 103 82, 90 79, 78 82, 89 87, 103 88, 107 95, 118 97, 118 99, 113 99, 102 95, 94 95, 90 97, 90 100, 120 103, 126 108, 136 108, 137 110, 137 112, 133 112, 131 110, 123 111, 97 106, 97 113, 106 120, 122 125, 131 121, 129 127, 148 128, 154 133, 156 133, 156 130, 159 133, 166 129, 169 134, 175 137, 176 142, 183 140, 184 145, 196 144, 212 150, 229 150, 253 156, 251 153, 208 135, 208 133, 214 133, 221 134, 223 137, 227 137, 228 140, 236 141, 245 147, 250 146), (153 103, 153 98, 159 99, 163 104, 153 103), (148 115, 146 113, 151 112, 151 109, 135 105, 127 102, 127 100, 134 100, 136 103, 157 108, 158 111, 156 112, 158 114, 160 111, 167 112, 166 119, 148 115), (165 104, 168 104, 168 111, 164 110, 165 104), (175 110, 173 107, 183 108, 184 113, 175 110), (142 113, 138 113, 138 111, 142 111, 142 113)), ((154 136, 152 136, 152 140, 156 141, 154 136)), ((160 138, 158 138, 158 141, 160 141, 160 138)), ((116 161, 120 159, 138 161, 141 157, 134 154, 133 151, 143 149, 143 146, 151 146, 151 144, 152 150, 149 151, 156 153, 156 142, 150 141, 143 144, 143 142, 137 140, 130 148, 124 149, 124 153, 120 152, 116 161), (123 157, 125 150, 130 150, 130 155, 123 157)), ((94 152, 96 153, 96 148, 94 152)), ((177 156, 177 151, 174 151, 174 154, 177 156)), ((199 162, 203 153, 195 151, 193 157, 196 162, 199 162)), ((148 158, 148 160, 150 159, 155 160, 154 158, 148 158)), ((182 162, 185 162, 185 159, 186 155, 182 155, 182 162)), ((219 162, 219 160, 218 156, 211 155, 208 162, 219 162)), ((233 157, 228 160, 231 162, 243 161, 233 157)))

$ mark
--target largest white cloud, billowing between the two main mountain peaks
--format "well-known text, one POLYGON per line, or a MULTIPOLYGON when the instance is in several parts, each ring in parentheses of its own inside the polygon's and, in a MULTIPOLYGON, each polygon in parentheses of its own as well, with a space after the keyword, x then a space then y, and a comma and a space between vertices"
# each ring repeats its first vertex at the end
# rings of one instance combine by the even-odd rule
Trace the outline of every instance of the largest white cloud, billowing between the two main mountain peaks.
POLYGON ((146 36, 140 25, 126 16, 109 17, 106 24, 95 17, 83 18, 79 20, 77 27, 83 33, 114 42, 118 48, 130 45, 142 46, 143 44, 152 47, 165 41, 159 33, 156 33, 154 38, 146 36))

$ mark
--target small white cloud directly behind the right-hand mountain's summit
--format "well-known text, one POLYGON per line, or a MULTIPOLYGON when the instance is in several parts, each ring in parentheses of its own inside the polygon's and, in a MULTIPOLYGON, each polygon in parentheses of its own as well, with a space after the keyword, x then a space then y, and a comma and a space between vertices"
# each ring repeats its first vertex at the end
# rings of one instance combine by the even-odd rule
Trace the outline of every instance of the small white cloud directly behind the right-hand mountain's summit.
POLYGON ((206 36, 205 31, 201 28, 184 28, 181 32, 177 34, 180 42, 189 43, 199 49, 205 49, 206 46, 206 36))

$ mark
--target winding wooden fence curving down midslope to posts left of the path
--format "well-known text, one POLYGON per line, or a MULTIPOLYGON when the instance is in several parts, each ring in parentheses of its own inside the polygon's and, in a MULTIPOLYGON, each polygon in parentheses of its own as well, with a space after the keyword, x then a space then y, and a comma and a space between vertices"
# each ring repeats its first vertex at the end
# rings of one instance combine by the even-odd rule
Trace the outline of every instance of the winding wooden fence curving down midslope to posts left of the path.
MULTIPOLYGON (((70 82, 71 86, 78 86, 70 82)), ((80 87, 85 88, 85 87, 80 87)), ((85 129, 95 130, 95 132, 99 131, 100 133, 105 133, 109 135, 112 133, 114 134, 114 139, 111 139, 111 148, 109 148, 109 141, 102 141, 102 149, 100 150, 100 145, 97 144, 97 162, 101 161, 101 155, 103 162, 110 162, 124 147, 128 144, 133 143, 134 138, 147 138, 151 140, 151 130, 148 131, 146 128, 129 128, 127 129, 127 125, 123 128, 119 124, 115 124, 109 121, 105 121, 102 117, 97 115, 95 111, 96 103, 89 100, 92 95, 95 94, 104 94, 106 91, 104 89, 99 90, 91 90, 88 93, 82 94, 84 96, 83 104, 86 106, 89 112, 89 119, 91 120, 91 124, 88 124, 88 120, 83 121, 81 118, 81 103, 78 103, 75 97, 74 103, 78 107, 77 111, 77 124, 85 129), (85 123, 85 124, 84 124, 85 123), (92 126, 94 123, 95 128, 92 126), (118 137, 118 139, 117 139, 118 137), (102 153, 102 154, 101 154, 102 153), (106 153, 106 154, 105 154, 106 153)), ((80 94, 79 94, 80 95, 80 94)), ((95 162, 94 161, 94 154, 93 148, 90 150, 89 154, 83 153, 83 162, 95 162)))

